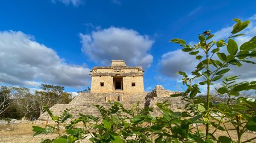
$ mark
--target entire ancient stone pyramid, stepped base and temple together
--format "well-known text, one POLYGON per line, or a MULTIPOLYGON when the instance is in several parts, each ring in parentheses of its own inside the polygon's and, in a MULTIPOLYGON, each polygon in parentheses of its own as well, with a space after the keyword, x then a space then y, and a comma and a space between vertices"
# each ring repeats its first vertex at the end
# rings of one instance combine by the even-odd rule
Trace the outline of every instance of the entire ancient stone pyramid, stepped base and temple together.
MULTIPOLYGON (((156 85, 151 92, 144 91, 143 69, 127 67, 124 60, 112 60, 109 67, 93 67, 91 71, 92 84, 90 93, 79 93, 69 104, 56 104, 51 107, 53 115, 59 115, 66 108, 76 118, 79 113, 100 115, 93 104, 108 107, 109 101, 118 101, 127 109, 139 102, 140 107, 154 107, 153 115, 160 115, 156 109, 157 102, 168 101, 173 110, 179 111, 184 107, 184 101, 180 97, 170 97, 172 92, 165 90, 163 86, 156 85)), ((45 112, 39 120, 47 120, 45 112)))

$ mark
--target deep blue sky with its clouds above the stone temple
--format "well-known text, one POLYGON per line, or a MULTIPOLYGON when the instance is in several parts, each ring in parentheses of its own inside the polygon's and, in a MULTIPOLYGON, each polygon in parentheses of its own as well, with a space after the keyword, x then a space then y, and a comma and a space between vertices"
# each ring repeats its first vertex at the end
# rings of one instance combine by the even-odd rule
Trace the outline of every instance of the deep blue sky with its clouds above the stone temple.
POLYGON ((145 90, 156 84, 177 90, 175 70, 193 64, 173 60, 182 56, 170 39, 197 41, 199 33, 221 32, 232 19, 255 20, 255 14, 256 1, 2 1, 0 84, 59 84, 76 92, 90 86, 93 66, 122 58, 143 66, 145 90))

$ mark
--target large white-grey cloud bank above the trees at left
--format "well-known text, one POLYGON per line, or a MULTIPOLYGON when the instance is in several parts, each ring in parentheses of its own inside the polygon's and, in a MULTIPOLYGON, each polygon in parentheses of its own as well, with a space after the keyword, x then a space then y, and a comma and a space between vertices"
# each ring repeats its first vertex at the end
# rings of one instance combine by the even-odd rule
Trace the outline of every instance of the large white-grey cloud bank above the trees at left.
POLYGON ((89 84, 89 71, 64 63, 54 50, 23 32, 0 32, 0 83, 80 87, 89 84))

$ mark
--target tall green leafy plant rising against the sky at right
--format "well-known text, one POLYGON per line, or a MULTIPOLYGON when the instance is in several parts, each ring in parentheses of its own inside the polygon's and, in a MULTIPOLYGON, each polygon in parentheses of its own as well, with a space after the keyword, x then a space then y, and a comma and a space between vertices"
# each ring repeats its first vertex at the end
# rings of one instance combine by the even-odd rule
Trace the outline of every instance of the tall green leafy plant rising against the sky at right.
MULTIPOLYGON (((187 111, 190 114, 201 116, 201 121, 205 124, 205 136, 201 136, 205 137, 205 142, 226 142, 227 140, 234 142, 230 136, 221 136, 216 139, 214 137, 216 130, 212 133, 209 132, 210 125, 216 129, 226 131, 229 135, 225 123, 232 123, 237 130, 237 142, 240 143, 242 134, 247 129, 251 129, 247 128, 247 124, 254 125, 255 122, 255 106, 252 106, 255 104, 255 101, 249 100, 249 98, 238 98, 236 102, 230 103, 230 98, 238 97, 240 92, 244 90, 255 90, 256 82, 235 84, 238 76, 224 77, 230 71, 229 67, 232 65, 241 67, 243 62, 255 64, 250 59, 256 57, 256 36, 251 38, 250 41, 243 43, 239 49, 236 41, 233 39, 234 37, 243 35, 237 33, 245 29, 250 21, 241 21, 240 19, 234 19, 234 21, 236 21, 236 24, 234 24, 230 36, 225 40, 210 41, 214 37, 213 34, 210 34, 210 31, 200 34, 200 42, 192 46, 186 44, 184 40, 177 38, 171 40, 171 42, 183 46, 184 48, 182 50, 184 52, 195 55, 195 59, 198 61, 196 70, 191 72, 192 77, 188 77, 187 73, 182 71, 178 72, 178 74, 184 77, 183 85, 187 86, 187 89, 183 93, 184 99, 188 101, 186 105, 187 111), (227 51, 226 53, 224 53, 225 50, 227 51), (214 55, 217 55, 217 58, 214 58, 214 55), (222 81, 223 85, 217 89, 217 92, 226 94, 228 101, 227 103, 214 105, 210 102, 210 88, 214 84, 214 81, 220 80, 222 77, 224 77, 222 81), (203 81, 197 84, 195 82, 196 79, 203 81), (207 85, 207 102, 203 102, 201 98, 196 97, 198 93, 201 93, 200 85, 207 85), (249 110, 246 106, 253 108, 251 114, 246 114, 246 111, 249 110), (220 119, 217 119, 212 114, 217 115, 220 119), (228 121, 224 121, 224 118, 228 121), (217 123, 212 122, 212 120, 217 123), (223 124, 224 127, 221 127, 220 124, 223 124)), ((199 131, 197 135, 199 135, 199 131)))

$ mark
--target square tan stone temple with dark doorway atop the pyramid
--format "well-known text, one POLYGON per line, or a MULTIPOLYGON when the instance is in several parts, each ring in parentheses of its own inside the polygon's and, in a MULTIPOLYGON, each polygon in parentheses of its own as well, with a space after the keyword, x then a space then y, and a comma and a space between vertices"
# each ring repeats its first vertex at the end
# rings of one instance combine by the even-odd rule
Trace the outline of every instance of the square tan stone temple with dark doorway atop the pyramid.
POLYGON ((112 60, 111 66, 93 67, 91 93, 143 93, 143 69, 128 67, 125 60, 112 60))

